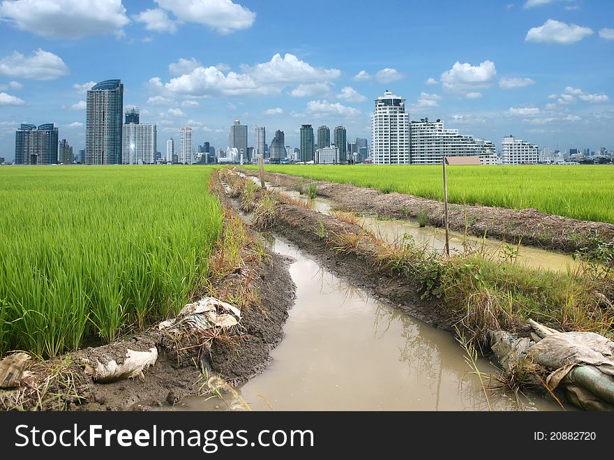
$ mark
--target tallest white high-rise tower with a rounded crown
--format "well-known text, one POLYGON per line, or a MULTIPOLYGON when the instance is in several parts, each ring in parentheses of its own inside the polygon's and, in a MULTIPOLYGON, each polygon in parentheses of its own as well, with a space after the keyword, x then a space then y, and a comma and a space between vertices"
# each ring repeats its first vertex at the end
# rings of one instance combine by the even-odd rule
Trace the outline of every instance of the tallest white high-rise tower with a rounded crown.
POLYGON ((406 165, 411 161, 410 115, 405 113, 405 99, 390 91, 375 99, 371 149, 376 165, 406 165))

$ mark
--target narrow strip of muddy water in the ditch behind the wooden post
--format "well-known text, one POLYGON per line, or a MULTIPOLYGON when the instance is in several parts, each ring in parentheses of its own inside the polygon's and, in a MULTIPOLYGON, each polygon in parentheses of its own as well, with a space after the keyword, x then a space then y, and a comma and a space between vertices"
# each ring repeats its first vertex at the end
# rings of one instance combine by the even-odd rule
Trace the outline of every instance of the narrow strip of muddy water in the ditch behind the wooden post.
MULTIPOLYGON (((251 177, 260 184, 260 179, 251 177)), ((292 198, 308 200, 305 195, 286 188, 276 187, 269 182, 265 185, 270 190, 280 191, 292 198)), ((324 198, 311 200, 315 211, 322 214, 330 214, 334 203, 324 198)), ((367 230, 372 230, 375 235, 393 241, 403 235, 410 235, 417 246, 426 246, 430 251, 443 252, 445 249, 445 230, 443 228, 426 226, 421 228, 418 223, 412 221, 380 220, 372 217, 361 217, 359 224, 367 230)), ((579 263, 571 256, 531 246, 518 246, 505 244, 496 239, 477 238, 471 235, 463 235, 459 232, 449 232, 451 253, 463 253, 465 248, 479 249, 490 255, 495 260, 507 260, 531 268, 549 270, 551 272, 567 272, 578 269, 579 263)))

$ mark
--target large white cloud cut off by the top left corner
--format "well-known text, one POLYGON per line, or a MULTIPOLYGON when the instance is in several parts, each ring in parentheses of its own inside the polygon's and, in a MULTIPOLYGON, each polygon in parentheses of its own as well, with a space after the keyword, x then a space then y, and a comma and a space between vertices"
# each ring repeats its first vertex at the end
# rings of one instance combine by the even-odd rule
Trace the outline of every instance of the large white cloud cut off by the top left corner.
POLYGON ((0 17, 47 38, 110 34, 130 22, 121 0, 3 0, 0 17))

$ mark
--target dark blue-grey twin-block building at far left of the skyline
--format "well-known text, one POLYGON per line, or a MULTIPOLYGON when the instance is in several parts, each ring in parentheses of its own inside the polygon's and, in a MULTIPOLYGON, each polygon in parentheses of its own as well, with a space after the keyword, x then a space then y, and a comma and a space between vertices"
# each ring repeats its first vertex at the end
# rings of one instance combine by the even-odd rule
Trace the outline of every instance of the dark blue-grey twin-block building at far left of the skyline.
POLYGON ((15 131, 16 165, 52 165, 58 160, 58 128, 22 124, 15 131))

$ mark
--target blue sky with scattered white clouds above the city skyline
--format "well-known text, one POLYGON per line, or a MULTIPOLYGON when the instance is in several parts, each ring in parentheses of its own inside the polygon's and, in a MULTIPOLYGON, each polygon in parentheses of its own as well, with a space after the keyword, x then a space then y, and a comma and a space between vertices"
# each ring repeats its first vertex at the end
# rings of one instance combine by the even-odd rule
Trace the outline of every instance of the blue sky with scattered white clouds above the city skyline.
POLYGON ((239 118, 370 138, 389 89, 412 119, 500 146, 614 149, 611 0, 2 0, 0 156, 20 123, 84 147, 85 91, 120 78, 158 124, 158 150, 192 126, 226 147, 239 118))

